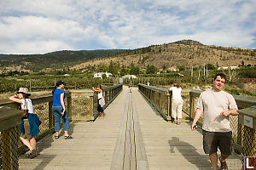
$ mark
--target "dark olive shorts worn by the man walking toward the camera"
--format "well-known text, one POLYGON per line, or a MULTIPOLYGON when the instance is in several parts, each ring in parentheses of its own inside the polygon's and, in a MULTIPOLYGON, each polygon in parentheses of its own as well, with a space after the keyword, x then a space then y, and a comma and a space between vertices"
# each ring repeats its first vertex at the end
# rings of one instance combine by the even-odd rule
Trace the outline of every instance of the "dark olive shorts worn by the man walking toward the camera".
POLYGON ((232 132, 208 132, 203 130, 203 148, 206 154, 220 150, 222 154, 231 155, 233 150, 232 132))

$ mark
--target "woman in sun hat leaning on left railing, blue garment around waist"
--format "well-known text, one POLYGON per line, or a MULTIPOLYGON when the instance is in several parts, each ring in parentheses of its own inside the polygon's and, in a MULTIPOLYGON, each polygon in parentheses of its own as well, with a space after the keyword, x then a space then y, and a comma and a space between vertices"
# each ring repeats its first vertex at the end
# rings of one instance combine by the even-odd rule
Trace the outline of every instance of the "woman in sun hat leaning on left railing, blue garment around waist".
POLYGON ((21 110, 28 110, 28 115, 21 120, 20 139, 30 150, 26 157, 32 159, 38 156, 35 136, 40 132, 39 125, 41 122, 38 119, 38 115, 34 114, 32 100, 28 98, 30 95, 27 88, 20 88, 17 94, 9 97, 9 99, 19 103, 21 110))

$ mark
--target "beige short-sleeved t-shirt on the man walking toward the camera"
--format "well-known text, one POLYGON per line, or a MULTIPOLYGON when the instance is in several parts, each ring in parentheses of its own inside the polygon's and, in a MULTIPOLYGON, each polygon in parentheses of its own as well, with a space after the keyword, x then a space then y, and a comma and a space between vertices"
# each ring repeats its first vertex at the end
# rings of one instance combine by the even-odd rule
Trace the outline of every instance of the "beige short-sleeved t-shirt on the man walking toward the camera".
POLYGON ((220 113, 224 110, 237 109, 236 100, 231 94, 209 89, 201 93, 197 108, 203 110, 202 129, 209 132, 230 132, 229 116, 220 113))

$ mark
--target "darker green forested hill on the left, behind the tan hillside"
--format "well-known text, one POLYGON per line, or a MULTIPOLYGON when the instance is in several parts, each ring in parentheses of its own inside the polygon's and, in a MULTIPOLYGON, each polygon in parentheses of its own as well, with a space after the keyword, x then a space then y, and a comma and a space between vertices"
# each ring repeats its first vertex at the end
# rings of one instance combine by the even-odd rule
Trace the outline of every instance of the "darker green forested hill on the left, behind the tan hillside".
POLYGON ((42 71, 45 69, 67 69, 70 65, 123 53, 125 50, 82 50, 57 51, 49 54, 0 54, 0 73, 2 71, 42 71))

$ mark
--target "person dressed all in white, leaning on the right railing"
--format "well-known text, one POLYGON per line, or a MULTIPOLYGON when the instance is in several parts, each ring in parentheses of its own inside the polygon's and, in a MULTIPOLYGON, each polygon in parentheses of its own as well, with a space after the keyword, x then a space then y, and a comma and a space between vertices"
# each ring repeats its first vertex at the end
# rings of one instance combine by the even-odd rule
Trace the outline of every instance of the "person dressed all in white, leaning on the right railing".
POLYGON ((181 96, 182 88, 174 82, 172 84, 172 117, 174 118, 174 122, 179 125, 180 119, 183 118, 183 98, 181 96))

